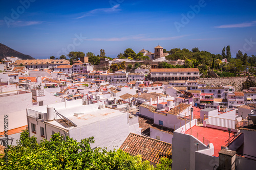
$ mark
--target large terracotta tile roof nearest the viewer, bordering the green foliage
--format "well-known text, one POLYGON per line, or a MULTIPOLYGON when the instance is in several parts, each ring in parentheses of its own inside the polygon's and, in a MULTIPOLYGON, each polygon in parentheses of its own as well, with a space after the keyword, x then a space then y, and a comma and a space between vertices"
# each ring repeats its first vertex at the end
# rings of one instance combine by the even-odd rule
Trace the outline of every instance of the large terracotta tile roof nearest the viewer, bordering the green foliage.
POLYGON ((129 134, 120 149, 134 156, 141 155, 142 160, 152 163, 159 163, 162 157, 172 157, 172 144, 134 133, 129 134))

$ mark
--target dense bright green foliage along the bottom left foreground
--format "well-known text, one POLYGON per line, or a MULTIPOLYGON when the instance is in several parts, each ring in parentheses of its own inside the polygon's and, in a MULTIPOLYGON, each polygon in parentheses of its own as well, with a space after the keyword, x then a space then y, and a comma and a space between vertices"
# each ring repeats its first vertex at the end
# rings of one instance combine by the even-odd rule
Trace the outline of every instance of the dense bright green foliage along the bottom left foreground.
MULTIPOLYGON (((93 137, 77 142, 59 133, 50 141, 36 142, 27 131, 20 135, 18 145, 8 150, 8 160, 0 158, 0 169, 154 169, 149 161, 131 156, 122 150, 92 150, 93 137)), ((163 158, 155 169, 170 169, 172 160, 163 158)))

